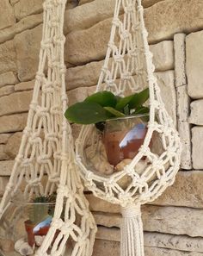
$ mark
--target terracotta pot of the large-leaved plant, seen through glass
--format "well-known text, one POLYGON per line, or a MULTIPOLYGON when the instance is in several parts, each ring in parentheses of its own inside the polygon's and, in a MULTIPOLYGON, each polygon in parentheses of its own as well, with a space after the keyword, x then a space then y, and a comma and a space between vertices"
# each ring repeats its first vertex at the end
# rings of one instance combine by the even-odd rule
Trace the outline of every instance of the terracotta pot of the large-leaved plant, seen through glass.
POLYGON ((110 119, 105 124, 103 143, 110 165, 133 159, 145 140, 149 115, 110 119))

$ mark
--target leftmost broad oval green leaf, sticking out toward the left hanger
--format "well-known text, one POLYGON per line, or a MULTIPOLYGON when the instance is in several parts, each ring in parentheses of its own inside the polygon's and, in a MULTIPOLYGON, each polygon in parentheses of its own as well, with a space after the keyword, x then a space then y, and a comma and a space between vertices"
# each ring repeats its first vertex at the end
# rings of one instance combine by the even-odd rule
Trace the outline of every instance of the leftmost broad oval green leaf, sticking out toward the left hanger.
POLYGON ((109 118, 108 112, 97 103, 76 103, 65 111, 69 122, 91 124, 104 122, 109 118))

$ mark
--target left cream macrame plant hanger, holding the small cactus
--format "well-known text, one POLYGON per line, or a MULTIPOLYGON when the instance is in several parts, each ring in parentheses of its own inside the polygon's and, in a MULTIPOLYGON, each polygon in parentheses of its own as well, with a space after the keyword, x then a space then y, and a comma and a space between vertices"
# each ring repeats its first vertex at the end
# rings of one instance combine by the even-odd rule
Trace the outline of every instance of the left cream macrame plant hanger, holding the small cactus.
MULTIPOLYGON (((65 4, 66 0, 46 0, 44 3, 40 63, 28 122, 0 205, 0 217, 3 218, 3 212, 23 183, 25 200, 34 195, 51 195, 57 190, 51 228, 35 253, 38 256, 90 256, 96 231, 75 165, 71 126, 64 116, 67 108, 63 34, 65 4), (64 219, 61 216, 63 211, 64 219), (56 232, 57 238, 52 244, 56 232), (70 241, 67 254, 66 244, 70 241)), ((15 225, 15 219, 16 216, 11 220, 12 225, 15 225)))

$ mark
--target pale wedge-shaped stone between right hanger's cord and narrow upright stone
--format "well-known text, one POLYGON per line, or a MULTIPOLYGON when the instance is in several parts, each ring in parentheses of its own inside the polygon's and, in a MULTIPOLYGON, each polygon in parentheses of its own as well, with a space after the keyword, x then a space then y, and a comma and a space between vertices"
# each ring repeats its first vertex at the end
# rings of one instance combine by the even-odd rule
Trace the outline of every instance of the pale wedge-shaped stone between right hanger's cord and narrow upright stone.
POLYGON ((169 116, 173 118, 176 125, 176 93, 174 72, 156 72, 156 77, 161 90, 161 96, 163 97, 163 103, 166 106, 169 116))

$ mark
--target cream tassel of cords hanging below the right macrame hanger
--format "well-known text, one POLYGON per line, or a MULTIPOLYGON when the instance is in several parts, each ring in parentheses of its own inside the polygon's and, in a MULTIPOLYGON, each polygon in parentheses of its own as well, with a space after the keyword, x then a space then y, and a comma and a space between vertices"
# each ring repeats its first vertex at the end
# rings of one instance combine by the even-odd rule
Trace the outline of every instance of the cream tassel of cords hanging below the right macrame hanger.
POLYGON ((140 205, 122 208, 120 256, 145 256, 140 205))

